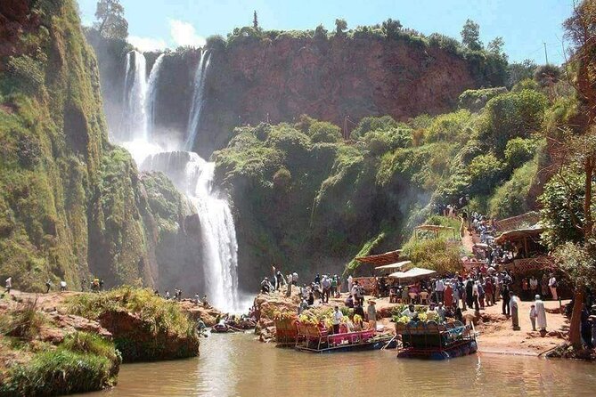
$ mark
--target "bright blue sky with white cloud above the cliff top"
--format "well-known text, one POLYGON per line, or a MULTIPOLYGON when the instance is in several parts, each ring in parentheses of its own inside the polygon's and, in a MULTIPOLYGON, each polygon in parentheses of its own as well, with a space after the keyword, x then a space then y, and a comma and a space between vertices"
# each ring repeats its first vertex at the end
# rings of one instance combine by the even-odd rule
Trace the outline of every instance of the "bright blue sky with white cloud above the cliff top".
MULTIPOLYGON (((81 19, 94 20, 96 0, 78 0, 81 19)), ((151 47, 201 45, 204 37, 225 36, 250 25, 252 12, 265 29, 306 29, 322 23, 332 29, 336 18, 348 28, 393 18, 424 34, 443 33, 460 39, 465 20, 480 24, 486 44, 495 36, 505 40, 510 61, 564 61, 561 23, 571 13, 572 0, 121 0, 128 20, 129 41, 151 47)))

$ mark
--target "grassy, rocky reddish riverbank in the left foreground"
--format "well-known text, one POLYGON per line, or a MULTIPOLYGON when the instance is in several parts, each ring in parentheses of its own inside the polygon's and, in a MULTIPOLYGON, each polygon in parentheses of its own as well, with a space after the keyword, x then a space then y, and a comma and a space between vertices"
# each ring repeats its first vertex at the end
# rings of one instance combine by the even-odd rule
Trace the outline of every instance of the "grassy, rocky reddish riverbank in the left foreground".
POLYGON ((59 395, 118 381, 121 362, 199 355, 195 331, 220 314, 149 289, 27 294, 0 299, 0 395, 59 395))

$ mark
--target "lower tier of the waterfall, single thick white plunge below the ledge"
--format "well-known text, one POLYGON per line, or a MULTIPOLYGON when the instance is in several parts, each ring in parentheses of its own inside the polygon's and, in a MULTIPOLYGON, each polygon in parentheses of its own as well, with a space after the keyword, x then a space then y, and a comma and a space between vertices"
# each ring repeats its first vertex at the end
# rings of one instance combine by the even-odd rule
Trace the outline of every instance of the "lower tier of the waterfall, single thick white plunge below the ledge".
POLYGON ((149 156, 141 169, 167 174, 191 200, 200 219, 201 262, 209 302, 224 312, 238 311, 236 230, 230 206, 214 189, 215 163, 193 152, 170 151, 149 156))

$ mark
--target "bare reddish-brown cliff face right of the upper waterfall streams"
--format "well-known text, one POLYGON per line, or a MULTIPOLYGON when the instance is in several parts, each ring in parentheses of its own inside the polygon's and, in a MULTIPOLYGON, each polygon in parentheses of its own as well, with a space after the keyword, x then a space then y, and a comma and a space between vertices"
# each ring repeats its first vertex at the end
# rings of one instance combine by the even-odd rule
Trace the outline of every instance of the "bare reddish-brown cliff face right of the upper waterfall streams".
POLYGON ((442 113, 476 85, 461 57, 404 40, 278 38, 234 44, 212 54, 195 149, 208 156, 225 145, 233 126, 291 122, 301 114, 338 126, 349 117, 352 129, 367 116, 405 120, 442 113))

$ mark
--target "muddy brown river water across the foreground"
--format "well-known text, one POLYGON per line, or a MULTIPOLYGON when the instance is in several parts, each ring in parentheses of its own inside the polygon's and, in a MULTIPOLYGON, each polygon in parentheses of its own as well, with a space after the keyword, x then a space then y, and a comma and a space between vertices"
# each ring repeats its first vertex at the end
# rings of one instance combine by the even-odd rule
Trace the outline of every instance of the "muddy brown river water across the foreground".
POLYGON ((126 364, 118 386, 85 396, 594 395, 596 365, 478 354, 452 361, 398 360, 396 351, 314 354, 211 335, 200 358, 126 364))

